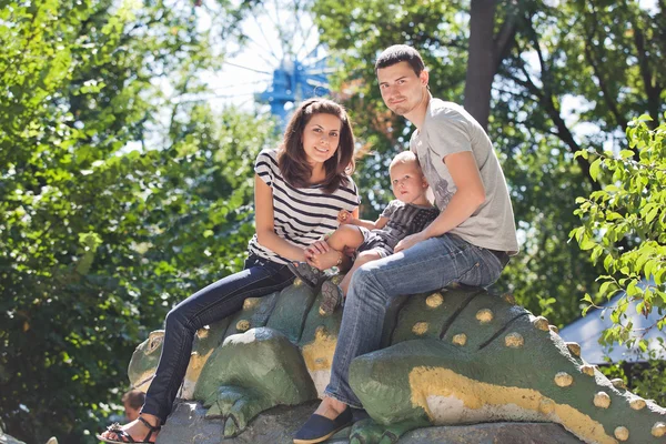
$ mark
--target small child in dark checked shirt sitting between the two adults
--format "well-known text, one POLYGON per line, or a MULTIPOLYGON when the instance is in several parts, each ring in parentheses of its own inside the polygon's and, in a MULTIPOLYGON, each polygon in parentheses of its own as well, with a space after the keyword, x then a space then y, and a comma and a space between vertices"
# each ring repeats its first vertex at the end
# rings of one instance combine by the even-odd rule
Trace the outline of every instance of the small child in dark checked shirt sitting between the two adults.
POLYGON ((289 265, 306 285, 316 287, 323 270, 340 265, 345 250, 356 250, 354 264, 340 286, 331 281, 322 284, 321 309, 324 313, 332 313, 342 303, 352 274, 359 266, 393 254, 393 249, 402 239, 422 231, 440 215, 440 210, 426 198, 428 185, 414 153, 404 151, 397 154, 389 167, 389 173, 396 200, 389 203, 380 219, 365 221, 341 211, 337 216, 341 226, 325 239, 331 251, 314 256, 311 260, 314 266, 307 262, 289 265))

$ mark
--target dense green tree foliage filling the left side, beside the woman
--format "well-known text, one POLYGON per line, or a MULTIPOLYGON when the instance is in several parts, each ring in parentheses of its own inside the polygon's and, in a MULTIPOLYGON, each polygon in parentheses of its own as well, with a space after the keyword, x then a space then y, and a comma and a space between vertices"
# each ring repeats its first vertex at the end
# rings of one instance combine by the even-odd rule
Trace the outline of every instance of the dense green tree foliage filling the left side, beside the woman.
POLYGON ((0 43, 0 420, 92 442, 133 347, 240 269, 273 124, 174 100, 223 56, 192 3, 10 1, 0 43))

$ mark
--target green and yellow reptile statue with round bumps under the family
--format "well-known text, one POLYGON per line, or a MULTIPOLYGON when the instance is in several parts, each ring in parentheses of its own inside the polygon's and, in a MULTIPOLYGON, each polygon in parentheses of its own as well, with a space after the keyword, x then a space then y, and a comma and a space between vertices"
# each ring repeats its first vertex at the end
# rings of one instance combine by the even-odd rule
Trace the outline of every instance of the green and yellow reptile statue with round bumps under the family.
MULTIPOLYGON (((332 278, 334 280, 340 276, 332 278)), ((182 397, 243 432, 264 410, 321 396, 341 311, 324 315, 302 282, 249 299, 233 316, 198 332, 182 397)), ((395 443, 430 425, 497 421, 562 424, 586 443, 666 443, 666 410, 608 381, 543 316, 511 296, 447 287, 403 296, 387 311, 383 349, 356 357, 350 384, 371 420, 351 443, 395 443)), ((147 390, 163 332, 137 347, 130 381, 147 390)))

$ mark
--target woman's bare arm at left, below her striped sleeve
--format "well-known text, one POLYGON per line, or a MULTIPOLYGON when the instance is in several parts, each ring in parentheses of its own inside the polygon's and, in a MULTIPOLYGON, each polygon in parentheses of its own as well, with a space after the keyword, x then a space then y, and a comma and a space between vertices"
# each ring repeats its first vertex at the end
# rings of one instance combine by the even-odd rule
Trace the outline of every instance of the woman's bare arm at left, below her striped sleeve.
POLYGON ((305 253, 275 234, 273 225, 273 190, 254 174, 254 223, 256 240, 262 246, 292 261, 305 261, 305 253))

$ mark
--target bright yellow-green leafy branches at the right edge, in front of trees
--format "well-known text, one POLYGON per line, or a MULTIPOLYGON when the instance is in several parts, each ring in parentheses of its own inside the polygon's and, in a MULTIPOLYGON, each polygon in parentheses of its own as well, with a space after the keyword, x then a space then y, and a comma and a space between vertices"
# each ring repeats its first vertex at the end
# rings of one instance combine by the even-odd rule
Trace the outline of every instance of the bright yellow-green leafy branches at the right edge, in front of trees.
POLYGON ((607 273, 598 278, 601 287, 594 300, 585 294, 584 313, 596 306, 595 300, 610 300, 622 292, 610 312, 615 325, 603 340, 636 343, 643 352, 647 352, 643 339, 647 331, 634 331, 626 313, 629 302, 639 301, 638 314, 659 312, 662 317, 649 329, 663 330, 666 324, 666 123, 650 130, 649 121, 646 114, 630 122, 628 149, 617 154, 578 152, 594 160, 591 174, 604 188, 576 200, 583 225, 571 232, 607 273))

